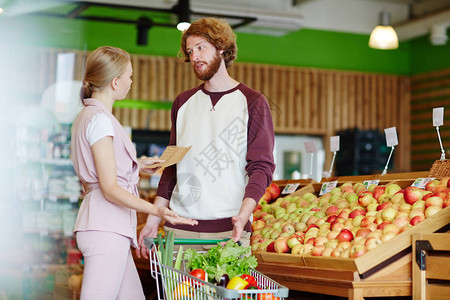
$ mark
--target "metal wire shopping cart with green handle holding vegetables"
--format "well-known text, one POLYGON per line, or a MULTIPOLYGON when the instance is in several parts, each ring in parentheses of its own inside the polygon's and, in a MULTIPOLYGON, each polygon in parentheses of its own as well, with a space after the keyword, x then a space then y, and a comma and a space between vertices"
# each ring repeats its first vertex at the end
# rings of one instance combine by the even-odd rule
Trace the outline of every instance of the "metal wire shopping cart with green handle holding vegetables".
MULTIPOLYGON (((217 245, 223 240, 175 239, 175 244, 185 245, 217 245)), ((155 246, 152 238, 145 238, 145 246, 150 250, 155 246)), ((176 252, 174 252, 176 254, 176 252)), ((159 300, 282 300, 289 294, 289 289, 280 285, 264 274, 251 269, 261 289, 231 290, 194 277, 186 270, 185 261, 177 270, 159 262, 157 251, 150 251, 150 272, 156 280, 159 300)))

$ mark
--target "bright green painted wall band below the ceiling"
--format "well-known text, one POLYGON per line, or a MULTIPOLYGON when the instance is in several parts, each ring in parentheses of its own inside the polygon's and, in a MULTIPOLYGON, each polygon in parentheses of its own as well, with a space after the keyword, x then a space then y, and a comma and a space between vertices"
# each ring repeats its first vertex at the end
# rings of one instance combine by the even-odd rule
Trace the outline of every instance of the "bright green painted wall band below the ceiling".
MULTIPOLYGON (((35 16, 0 16, 0 34, 9 43, 87 50, 112 45, 161 56, 176 56, 181 37, 176 29, 154 27, 148 45, 138 46, 134 25, 35 16)), ((432 46, 422 37, 396 50, 375 50, 368 47, 368 38, 311 29, 282 37, 237 32, 237 61, 404 75, 450 67, 450 42, 432 46)))

